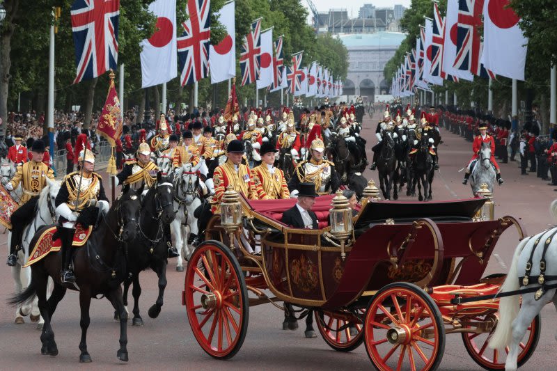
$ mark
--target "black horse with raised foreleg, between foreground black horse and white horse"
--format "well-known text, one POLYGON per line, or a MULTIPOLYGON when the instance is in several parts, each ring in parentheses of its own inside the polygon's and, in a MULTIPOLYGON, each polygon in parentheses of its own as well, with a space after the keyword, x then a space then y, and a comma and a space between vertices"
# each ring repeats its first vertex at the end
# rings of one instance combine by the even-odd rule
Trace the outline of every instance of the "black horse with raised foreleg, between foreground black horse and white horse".
MULTIPOLYGON (((167 239, 170 238, 169 224, 174 220, 174 188, 173 175, 162 177, 157 174, 157 182, 149 189, 141 203, 141 214, 139 215, 139 233, 134 236, 128 247, 127 276, 124 281, 124 305, 127 306, 127 292, 130 285, 134 285, 132 296, 134 297, 134 326, 143 326, 143 319, 139 315, 139 297, 141 285, 139 273, 144 269, 151 268, 159 278, 159 296, 157 301, 148 311, 149 317, 157 318, 161 313, 164 303, 164 289, 166 288, 166 265, 168 256, 167 239), (168 236, 165 236, 168 235, 168 236), (167 237, 167 238, 165 238, 167 237)), ((117 317, 118 313, 114 313, 117 317)))

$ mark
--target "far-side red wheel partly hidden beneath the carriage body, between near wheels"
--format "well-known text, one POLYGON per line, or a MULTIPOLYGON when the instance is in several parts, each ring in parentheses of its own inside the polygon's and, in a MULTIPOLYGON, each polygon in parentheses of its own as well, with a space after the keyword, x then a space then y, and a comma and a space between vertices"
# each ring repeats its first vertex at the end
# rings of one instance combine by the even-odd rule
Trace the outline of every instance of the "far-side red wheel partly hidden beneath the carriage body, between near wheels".
MULTIPOLYGON (((350 313, 347 312, 347 315, 350 313)), ((366 310, 359 309, 358 315, 363 319, 366 310)), ((350 324, 345 321, 345 317, 335 315, 335 313, 317 313, 315 311, 315 323, 323 340, 329 347, 339 352, 350 352, 363 342, 363 325, 350 324)))

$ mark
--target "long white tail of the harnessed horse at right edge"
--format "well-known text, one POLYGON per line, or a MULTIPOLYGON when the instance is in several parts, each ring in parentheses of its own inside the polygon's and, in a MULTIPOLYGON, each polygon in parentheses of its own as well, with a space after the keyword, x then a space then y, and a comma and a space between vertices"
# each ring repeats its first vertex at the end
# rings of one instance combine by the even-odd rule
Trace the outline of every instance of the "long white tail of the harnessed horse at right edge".
MULTIPOLYGON (((553 204, 551 204, 551 206, 553 206, 553 204)), ((505 282, 501 285, 499 292, 510 292, 520 288, 518 281, 518 259, 524 246, 526 246, 526 242, 529 240, 530 239, 525 238, 518 244, 515 255, 512 257, 509 273, 507 278, 505 278, 505 282)), ((512 336, 512 321, 515 320, 520 310, 519 300, 519 295, 503 297, 499 300, 499 321, 497 321, 495 332, 491 340, 489 340, 490 348, 502 349, 510 342, 512 336)))

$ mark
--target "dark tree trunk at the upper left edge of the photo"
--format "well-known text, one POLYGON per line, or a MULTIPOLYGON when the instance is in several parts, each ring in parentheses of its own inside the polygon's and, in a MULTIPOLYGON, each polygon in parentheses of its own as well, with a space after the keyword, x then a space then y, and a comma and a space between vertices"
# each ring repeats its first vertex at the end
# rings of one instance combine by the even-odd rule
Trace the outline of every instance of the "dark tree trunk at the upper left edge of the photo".
POLYGON ((2 27, 0 33, 0 136, 6 133, 6 123, 8 123, 8 89, 10 85, 10 68, 12 62, 10 52, 12 50, 11 40, 15 25, 13 19, 19 10, 19 0, 6 0, 3 2, 6 8, 7 19, 4 19, 6 26, 2 27))

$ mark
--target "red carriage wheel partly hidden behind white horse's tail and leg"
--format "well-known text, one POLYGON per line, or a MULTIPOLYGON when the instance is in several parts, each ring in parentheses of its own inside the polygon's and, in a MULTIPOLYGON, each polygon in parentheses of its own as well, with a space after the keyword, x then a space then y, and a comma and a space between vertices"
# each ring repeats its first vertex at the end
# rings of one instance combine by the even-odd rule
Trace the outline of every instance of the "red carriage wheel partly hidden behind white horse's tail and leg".
MULTIPOLYGON (((477 326, 474 326, 473 322, 478 322, 478 326, 482 326, 482 324, 489 320, 495 321, 492 316, 473 317, 468 320, 469 324, 464 326, 464 328, 476 328, 477 326)), ((528 361, 528 358, 532 356, 535 347, 538 345, 541 323, 540 316, 537 315, 530 326, 528 326, 526 335, 520 342, 520 352, 517 358, 519 368, 528 361)), ((501 350, 487 347, 493 331, 495 331, 495 327, 489 333, 462 333, 462 341, 464 342, 464 347, 466 347, 466 352, 470 354, 474 362, 485 368, 485 370, 505 370, 505 361, 507 361, 509 348, 505 347, 505 352, 502 352, 501 350)))

